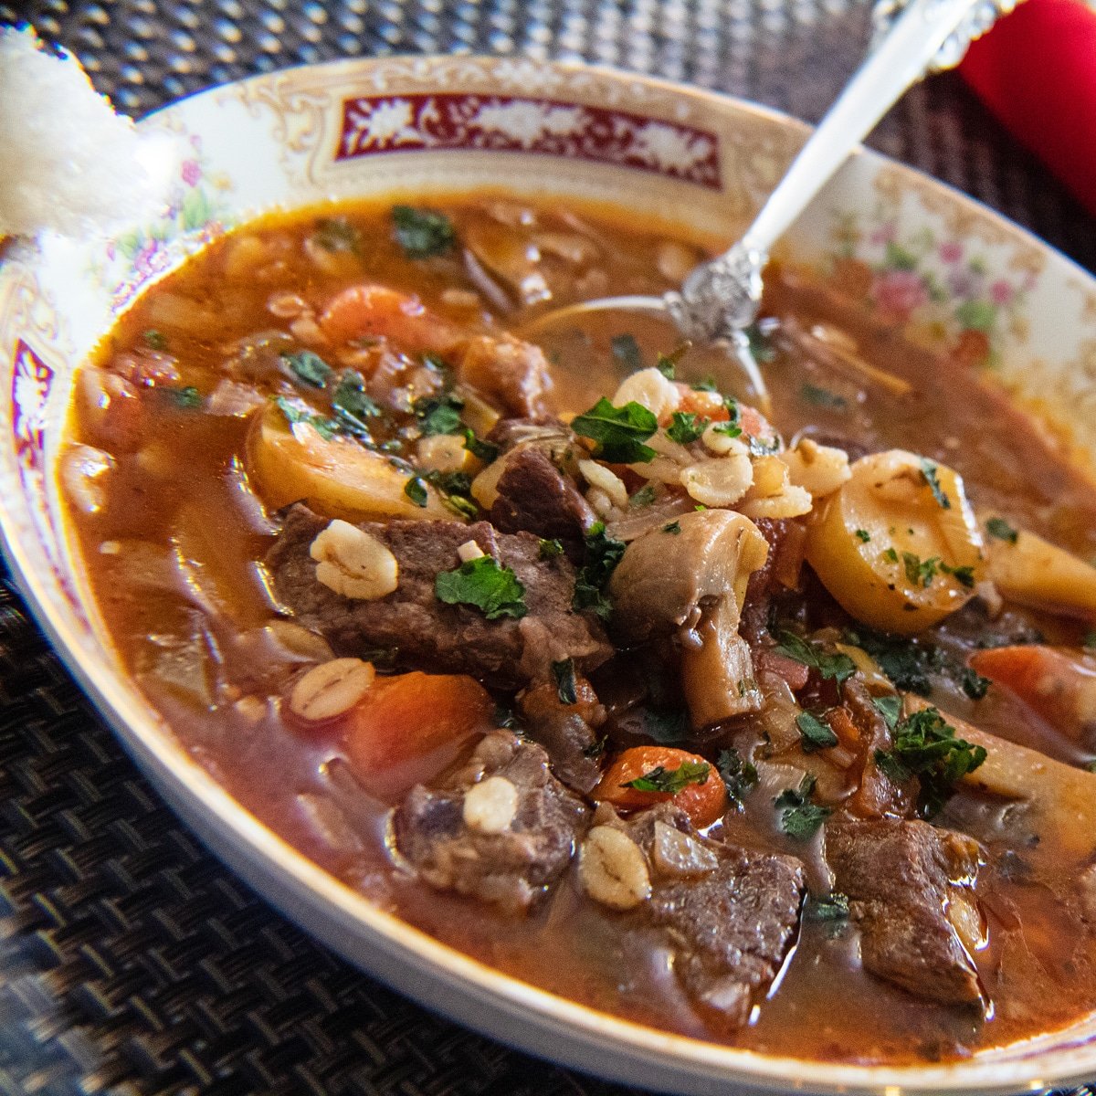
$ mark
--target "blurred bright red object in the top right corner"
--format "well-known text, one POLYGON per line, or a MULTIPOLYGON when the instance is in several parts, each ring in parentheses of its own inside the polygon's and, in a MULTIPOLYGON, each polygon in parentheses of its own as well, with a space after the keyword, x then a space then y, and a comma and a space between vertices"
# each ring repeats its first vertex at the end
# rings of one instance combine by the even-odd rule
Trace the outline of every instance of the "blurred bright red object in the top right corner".
POLYGON ((1027 0, 975 42, 959 71, 1096 215, 1096 11, 1027 0))

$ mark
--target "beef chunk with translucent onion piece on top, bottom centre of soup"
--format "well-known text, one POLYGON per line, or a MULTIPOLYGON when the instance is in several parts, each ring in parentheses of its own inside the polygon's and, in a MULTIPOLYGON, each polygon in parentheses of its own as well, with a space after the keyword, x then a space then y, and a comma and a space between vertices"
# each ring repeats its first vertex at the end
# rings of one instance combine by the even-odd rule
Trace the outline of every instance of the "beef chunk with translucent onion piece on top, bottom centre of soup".
POLYGON ((806 890, 802 865, 707 841, 671 803, 620 824, 651 865, 651 898, 629 916, 664 934, 697 1009, 709 1025, 733 1031, 795 941, 806 890))

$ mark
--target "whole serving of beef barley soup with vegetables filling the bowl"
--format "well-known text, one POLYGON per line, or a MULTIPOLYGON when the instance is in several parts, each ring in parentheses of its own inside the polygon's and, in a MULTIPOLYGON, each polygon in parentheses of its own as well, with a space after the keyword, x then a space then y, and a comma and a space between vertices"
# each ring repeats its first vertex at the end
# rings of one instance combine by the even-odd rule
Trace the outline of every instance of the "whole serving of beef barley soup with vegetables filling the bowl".
POLYGON ((535 985, 836 1062, 1064 1026, 1096 1006, 1096 490, 790 269, 772 406, 650 318, 523 335, 701 254, 493 194, 213 244, 78 377, 105 627, 244 807, 535 985))

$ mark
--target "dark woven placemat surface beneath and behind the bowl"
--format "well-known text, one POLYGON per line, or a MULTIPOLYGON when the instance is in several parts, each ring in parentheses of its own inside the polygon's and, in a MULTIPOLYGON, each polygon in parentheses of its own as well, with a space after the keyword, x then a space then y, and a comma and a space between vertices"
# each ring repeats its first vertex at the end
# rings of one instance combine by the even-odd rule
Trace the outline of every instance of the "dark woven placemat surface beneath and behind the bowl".
MULTIPOLYGON (((615 65, 817 121, 868 34, 855 0, 0 0, 21 20, 134 115, 286 65, 459 52, 615 65)), ((870 144, 1096 271, 1096 219, 958 77, 911 91, 870 144)), ((0 563, 0 1094, 626 1092, 411 1004, 273 912, 136 772, 0 563)))

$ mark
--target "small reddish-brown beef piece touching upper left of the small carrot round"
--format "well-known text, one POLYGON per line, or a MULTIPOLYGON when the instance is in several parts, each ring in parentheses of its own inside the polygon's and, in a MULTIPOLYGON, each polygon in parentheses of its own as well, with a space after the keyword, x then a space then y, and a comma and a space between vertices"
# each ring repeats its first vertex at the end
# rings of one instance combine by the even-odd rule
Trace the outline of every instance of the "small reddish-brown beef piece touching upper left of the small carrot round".
POLYGON ((529 734, 548 751, 552 772, 569 788, 592 791, 602 776, 597 728, 606 715, 590 683, 575 682, 574 704, 564 704, 558 687, 546 684, 528 689, 518 705, 529 734))

